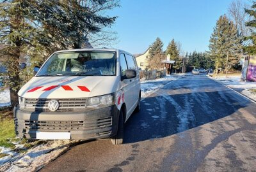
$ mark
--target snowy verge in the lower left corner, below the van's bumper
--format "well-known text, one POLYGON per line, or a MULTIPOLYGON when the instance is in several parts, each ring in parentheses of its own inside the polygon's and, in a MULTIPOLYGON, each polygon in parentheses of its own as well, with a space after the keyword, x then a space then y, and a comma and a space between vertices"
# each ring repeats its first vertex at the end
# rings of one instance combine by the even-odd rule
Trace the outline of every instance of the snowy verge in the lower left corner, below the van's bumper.
MULTIPOLYGON (((24 154, 13 153, 13 155, 0 159, 0 171, 38 171, 45 164, 65 152, 70 144, 75 142, 77 141, 51 140, 32 147, 24 154)), ((10 154, 12 150, 4 148, 2 152, 10 154)))

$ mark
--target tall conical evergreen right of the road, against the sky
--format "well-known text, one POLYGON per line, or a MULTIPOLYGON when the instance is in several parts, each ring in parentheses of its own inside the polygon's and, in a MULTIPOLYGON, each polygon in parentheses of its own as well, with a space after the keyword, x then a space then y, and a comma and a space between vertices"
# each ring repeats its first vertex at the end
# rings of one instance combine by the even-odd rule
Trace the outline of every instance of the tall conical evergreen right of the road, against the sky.
POLYGON ((225 68, 227 52, 229 64, 235 66, 238 62, 237 53, 241 52, 241 40, 237 38, 235 25, 225 15, 216 22, 211 35, 209 50, 216 68, 225 68))

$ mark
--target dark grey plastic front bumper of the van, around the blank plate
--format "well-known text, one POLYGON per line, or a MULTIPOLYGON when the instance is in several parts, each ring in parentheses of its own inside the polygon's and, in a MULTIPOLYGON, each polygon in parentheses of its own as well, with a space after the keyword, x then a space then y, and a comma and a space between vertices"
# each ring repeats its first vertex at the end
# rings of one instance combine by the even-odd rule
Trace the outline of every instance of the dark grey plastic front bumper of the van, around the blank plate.
POLYGON ((120 111, 116 105, 98 110, 26 111, 13 110, 18 137, 36 139, 36 132, 68 132, 73 140, 90 140, 115 136, 120 111))

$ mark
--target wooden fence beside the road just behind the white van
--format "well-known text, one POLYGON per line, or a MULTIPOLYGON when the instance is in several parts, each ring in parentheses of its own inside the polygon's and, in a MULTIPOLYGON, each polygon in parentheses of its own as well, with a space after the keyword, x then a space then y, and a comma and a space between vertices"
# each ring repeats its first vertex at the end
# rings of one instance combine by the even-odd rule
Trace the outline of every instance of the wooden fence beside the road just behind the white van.
POLYGON ((156 78, 163 78, 166 75, 166 70, 150 70, 150 71, 140 71, 141 80, 156 80, 156 78))

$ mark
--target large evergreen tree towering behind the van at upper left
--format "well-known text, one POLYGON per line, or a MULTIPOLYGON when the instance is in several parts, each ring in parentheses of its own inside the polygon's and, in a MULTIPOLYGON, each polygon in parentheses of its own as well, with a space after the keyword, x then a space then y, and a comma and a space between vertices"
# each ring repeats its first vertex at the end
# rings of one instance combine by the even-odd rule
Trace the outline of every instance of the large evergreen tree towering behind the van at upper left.
MULTIPOLYGON (((118 6, 116 0, 10 0, 0 3, 0 55, 6 62, 12 107, 18 103, 19 59, 28 54, 33 66, 40 66, 52 52, 82 48, 92 36, 111 26, 116 17, 104 11, 118 6)), ((99 40, 111 37, 102 36, 99 40)), ((33 67, 31 66, 31 68, 33 67)), ((30 70, 31 73, 31 70, 30 70)))

